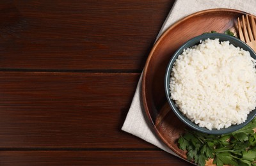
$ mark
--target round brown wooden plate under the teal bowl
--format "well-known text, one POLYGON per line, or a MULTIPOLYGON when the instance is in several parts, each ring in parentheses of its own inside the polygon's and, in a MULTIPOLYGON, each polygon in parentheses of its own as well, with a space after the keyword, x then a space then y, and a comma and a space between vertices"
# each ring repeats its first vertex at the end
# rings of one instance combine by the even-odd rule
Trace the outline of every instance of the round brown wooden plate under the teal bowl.
POLYGON ((223 33, 227 29, 236 32, 237 17, 244 14, 238 10, 214 9, 189 15, 166 30, 148 56, 142 80, 145 111, 159 138, 184 159, 186 153, 179 149, 177 139, 186 126, 167 103, 164 93, 166 66, 175 50, 195 36, 209 31, 223 33))

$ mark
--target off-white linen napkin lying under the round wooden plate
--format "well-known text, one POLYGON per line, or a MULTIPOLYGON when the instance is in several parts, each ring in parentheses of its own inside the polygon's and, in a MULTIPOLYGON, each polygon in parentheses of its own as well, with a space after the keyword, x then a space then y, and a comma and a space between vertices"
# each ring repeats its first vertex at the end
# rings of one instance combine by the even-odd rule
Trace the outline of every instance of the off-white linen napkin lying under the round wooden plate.
MULTIPOLYGON (((173 4, 173 8, 166 18, 158 36, 161 36, 168 27, 172 26, 177 20, 182 19, 196 11, 207 10, 211 8, 230 8, 236 10, 246 11, 256 15, 256 1, 255 0, 176 0, 173 4)), ((154 144, 155 146, 171 153, 175 154, 169 147, 167 147, 152 130, 152 124, 145 115, 143 108, 143 102, 141 98, 141 77, 138 82, 134 98, 131 103, 131 107, 122 126, 122 130, 131 133, 141 139, 154 144)))

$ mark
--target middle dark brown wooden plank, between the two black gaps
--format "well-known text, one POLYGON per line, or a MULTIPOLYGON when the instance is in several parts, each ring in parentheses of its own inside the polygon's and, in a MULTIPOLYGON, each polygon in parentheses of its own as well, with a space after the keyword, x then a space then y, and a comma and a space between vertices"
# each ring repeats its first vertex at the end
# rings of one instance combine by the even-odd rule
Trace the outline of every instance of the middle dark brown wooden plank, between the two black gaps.
POLYGON ((120 130, 139 77, 0 72, 0 147, 154 147, 120 130))

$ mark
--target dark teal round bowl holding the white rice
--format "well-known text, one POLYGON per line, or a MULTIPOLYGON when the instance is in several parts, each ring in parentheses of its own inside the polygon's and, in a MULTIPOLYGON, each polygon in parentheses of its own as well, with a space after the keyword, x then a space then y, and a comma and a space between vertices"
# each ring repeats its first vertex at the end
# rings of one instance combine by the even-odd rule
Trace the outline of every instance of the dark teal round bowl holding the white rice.
POLYGON ((189 47, 192 47, 193 45, 198 45, 200 43, 200 40, 206 40, 207 38, 210 39, 215 39, 218 38, 220 41, 230 41, 230 44, 236 46, 236 47, 240 47, 244 50, 247 50, 250 52, 251 56, 253 57, 253 59, 256 59, 256 54, 255 52, 248 46, 246 45, 246 43, 244 43, 243 41, 239 40, 238 38, 235 38, 233 36, 229 36, 227 34, 220 34, 220 33, 209 33, 209 34, 202 34, 200 36, 196 36, 195 38, 192 38, 191 40, 187 41, 186 43, 184 43, 172 56, 172 58, 170 59, 170 62, 168 63, 167 69, 166 69, 166 75, 164 78, 164 89, 165 89, 165 93, 166 93, 166 98, 168 100, 168 103, 170 104, 170 107, 172 108, 173 112, 175 113, 175 115, 177 117, 179 117, 179 119, 184 122, 186 125, 188 125, 190 128, 193 128, 194 130, 197 130, 199 132, 202 133, 209 133, 209 134, 224 134, 224 133, 230 133, 230 132, 234 132, 236 130, 239 130, 240 128, 243 128, 243 126, 245 126, 246 124, 248 124, 250 121, 252 121, 252 119, 255 117, 256 115, 256 109, 252 110, 250 112, 250 114, 248 114, 248 117, 246 119, 246 121, 244 123, 241 124, 236 124, 236 125, 232 125, 228 128, 222 128, 220 130, 217 129, 212 129, 209 130, 207 128, 202 128, 200 126, 198 126, 197 124, 193 123, 192 121, 190 121, 186 116, 184 116, 182 114, 182 112, 180 112, 180 110, 175 106, 175 101, 173 101, 170 97, 170 77, 171 77, 171 72, 172 72, 172 67, 173 67, 173 63, 175 62, 175 60, 177 59, 177 57, 182 54, 184 49, 187 49, 189 47))

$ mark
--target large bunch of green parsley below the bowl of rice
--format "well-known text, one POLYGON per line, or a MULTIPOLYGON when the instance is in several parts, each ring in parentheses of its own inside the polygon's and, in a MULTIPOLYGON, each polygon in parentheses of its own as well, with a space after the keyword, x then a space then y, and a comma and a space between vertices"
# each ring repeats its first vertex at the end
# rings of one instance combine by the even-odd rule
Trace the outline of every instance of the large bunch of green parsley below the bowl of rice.
POLYGON ((219 165, 256 165, 256 118, 236 132, 209 135, 186 130, 180 136, 179 148, 187 151, 187 158, 205 165, 209 158, 219 165))

